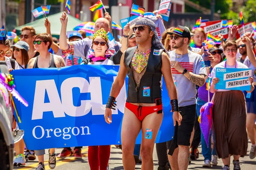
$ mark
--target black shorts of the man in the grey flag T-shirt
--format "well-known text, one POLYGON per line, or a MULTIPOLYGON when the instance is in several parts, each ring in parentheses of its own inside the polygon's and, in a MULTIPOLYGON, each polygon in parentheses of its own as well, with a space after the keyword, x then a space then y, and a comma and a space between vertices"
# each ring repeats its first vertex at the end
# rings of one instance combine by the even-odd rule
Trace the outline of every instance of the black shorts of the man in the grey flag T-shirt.
POLYGON ((182 121, 180 126, 176 122, 173 140, 167 142, 167 148, 170 149, 169 153, 173 153, 178 145, 190 146, 190 137, 195 123, 196 105, 180 107, 179 111, 182 121))

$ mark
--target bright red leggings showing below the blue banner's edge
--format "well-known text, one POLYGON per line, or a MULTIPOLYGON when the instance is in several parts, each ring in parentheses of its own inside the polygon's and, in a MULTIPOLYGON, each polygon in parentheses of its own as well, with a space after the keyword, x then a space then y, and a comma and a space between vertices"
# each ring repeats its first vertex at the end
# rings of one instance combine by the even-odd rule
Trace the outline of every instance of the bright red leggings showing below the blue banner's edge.
POLYGON ((91 170, 107 170, 109 157, 110 145, 88 147, 88 161, 91 170))

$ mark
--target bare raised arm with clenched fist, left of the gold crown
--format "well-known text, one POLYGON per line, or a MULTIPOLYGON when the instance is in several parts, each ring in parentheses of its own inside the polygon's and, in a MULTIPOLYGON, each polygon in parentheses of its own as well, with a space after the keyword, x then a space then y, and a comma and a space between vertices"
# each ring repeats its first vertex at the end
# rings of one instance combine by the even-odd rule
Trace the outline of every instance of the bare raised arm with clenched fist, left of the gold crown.
POLYGON ((61 50, 67 50, 69 48, 67 44, 67 14, 66 12, 63 12, 61 17, 61 34, 60 34, 60 48, 61 50))

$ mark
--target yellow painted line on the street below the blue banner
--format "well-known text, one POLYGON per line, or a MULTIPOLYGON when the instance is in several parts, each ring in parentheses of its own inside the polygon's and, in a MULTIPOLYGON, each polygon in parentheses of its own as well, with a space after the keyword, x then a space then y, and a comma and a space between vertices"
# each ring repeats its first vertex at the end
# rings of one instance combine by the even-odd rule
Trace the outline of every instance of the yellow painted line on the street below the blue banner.
MULTIPOLYGON (((88 147, 87 148, 84 148, 81 150, 81 153, 84 153, 84 152, 87 152, 88 151, 88 147)), ((83 156, 88 156, 87 154, 82 154, 83 156)), ((57 157, 56 157, 57 158, 57 157)), ((60 165, 63 165, 63 164, 67 164, 68 162, 71 162, 75 160, 75 157, 71 158, 71 159, 58 159, 57 158, 57 164, 56 164, 56 167, 60 166, 60 165), (60 162, 58 162, 60 161, 60 162)), ((28 166, 20 166, 19 168, 17 169, 22 169, 22 170, 35 170, 34 168, 36 168, 38 166, 38 162, 35 163, 35 164, 30 164, 28 166)), ((44 161, 44 166, 45 166, 45 170, 50 170, 49 166, 48 166, 48 160, 44 161)), ((14 168, 15 169, 15 168, 14 168)))

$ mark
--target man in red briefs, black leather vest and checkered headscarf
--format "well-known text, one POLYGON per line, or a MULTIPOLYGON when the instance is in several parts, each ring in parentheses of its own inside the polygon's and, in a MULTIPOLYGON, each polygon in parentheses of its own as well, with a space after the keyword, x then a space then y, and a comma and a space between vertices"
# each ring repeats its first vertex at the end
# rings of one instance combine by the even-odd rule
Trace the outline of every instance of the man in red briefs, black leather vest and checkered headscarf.
POLYGON ((162 75, 172 99, 174 124, 176 125, 177 121, 180 125, 182 117, 178 112, 177 91, 172 78, 170 60, 159 40, 156 25, 151 20, 141 18, 136 22, 133 31, 138 45, 128 48, 122 55, 104 117, 107 123, 112 122, 111 109, 115 109, 115 99, 128 75, 128 94, 121 130, 123 167, 125 170, 135 169, 134 145, 142 129, 142 170, 153 170, 154 143, 163 120, 162 75))

